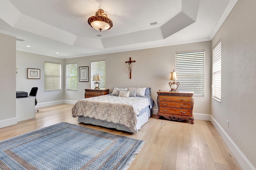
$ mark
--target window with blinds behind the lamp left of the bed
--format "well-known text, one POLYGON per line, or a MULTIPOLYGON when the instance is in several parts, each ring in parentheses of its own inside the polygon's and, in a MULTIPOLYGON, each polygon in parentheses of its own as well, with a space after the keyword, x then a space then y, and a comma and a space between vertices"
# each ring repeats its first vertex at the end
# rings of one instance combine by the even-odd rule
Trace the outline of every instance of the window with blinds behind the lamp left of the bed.
POLYGON ((100 89, 106 89, 106 61, 91 61, 91 88, 94 89, 93 75, 100 75, 100 89))

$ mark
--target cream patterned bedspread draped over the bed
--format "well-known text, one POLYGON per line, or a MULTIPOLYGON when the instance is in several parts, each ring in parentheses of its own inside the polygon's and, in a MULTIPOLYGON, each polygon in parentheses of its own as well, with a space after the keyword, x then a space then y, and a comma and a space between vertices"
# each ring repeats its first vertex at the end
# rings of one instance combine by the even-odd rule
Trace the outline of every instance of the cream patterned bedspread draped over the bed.
POLYGON ((72 108, 72 117, 84 116, 117 123, 136 131, 136 116, 149 106, 143 97, 117 97, 102 95, 78 101, 72 108))

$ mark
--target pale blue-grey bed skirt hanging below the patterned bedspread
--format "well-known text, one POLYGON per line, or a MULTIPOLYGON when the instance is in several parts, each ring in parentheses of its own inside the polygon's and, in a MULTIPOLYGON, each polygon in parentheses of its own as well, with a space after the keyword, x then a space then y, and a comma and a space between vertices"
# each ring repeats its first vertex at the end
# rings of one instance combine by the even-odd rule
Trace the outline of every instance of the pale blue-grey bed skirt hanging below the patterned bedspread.
MULTIPOLYGON (((152 113, 153 113, 153 109, 148 109, 148 111, 145 111, 143 114, 140 114, 140 116, 137 117, 136 132, 138 132, 138 130, 142 127, 142 125, 148 122, 148 119, 151 117, 152 113)), ((107 128, 115 128, 117 130, 122 130, 122 131, 132 133, 132 131, 129 128, 125 127, 124 125, 101 121, 95 118, 79 116, 78 122, 107 127, 107 128)))

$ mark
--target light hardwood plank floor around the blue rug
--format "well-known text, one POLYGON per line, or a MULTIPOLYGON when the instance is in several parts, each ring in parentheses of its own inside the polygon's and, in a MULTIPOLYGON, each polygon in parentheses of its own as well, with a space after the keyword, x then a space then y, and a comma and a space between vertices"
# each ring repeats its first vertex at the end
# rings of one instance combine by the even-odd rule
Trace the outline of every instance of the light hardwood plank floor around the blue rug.
POLYGON ((38 108, 35 119, 0 128, 0 140, 68 122, 146 141, 129 170, 242 170, 209 121, 174 122, 153 115, 138 133, 122 132, 77 122, 71 116, 73 105, 38 108))

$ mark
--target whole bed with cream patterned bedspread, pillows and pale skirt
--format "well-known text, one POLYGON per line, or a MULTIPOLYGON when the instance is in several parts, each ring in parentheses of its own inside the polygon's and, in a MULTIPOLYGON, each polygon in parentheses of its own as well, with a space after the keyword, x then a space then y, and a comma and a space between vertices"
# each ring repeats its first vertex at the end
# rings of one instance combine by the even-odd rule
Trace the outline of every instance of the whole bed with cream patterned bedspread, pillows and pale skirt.
POLYGON ((72 107, 72 117, 78 122, 138 132, 148 122, 155 102, 150 88, 118 88, 111 94, 79 100, 72 107))

